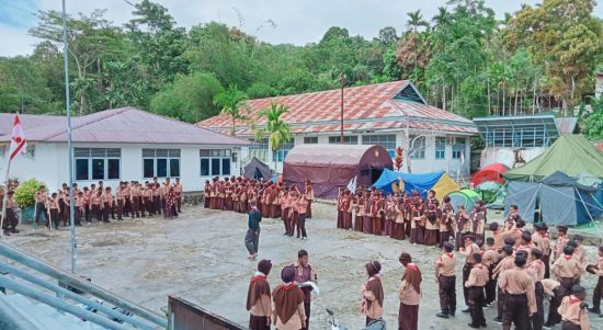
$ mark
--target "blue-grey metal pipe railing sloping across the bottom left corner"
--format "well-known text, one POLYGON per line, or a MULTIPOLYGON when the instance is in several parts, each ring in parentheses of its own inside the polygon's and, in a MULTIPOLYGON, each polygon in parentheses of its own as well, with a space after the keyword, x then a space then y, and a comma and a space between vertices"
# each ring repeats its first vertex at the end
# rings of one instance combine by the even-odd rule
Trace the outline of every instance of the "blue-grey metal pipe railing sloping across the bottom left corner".
MULTIPOLYGON (((38 274, 31 274, 29 271, 23 271, 22 269, 10 265, 5 262, 0 262, 0 272, 7 272, 11 276, 0 275, 0 287, 16 292, 21 295, 57 308, 61 311, 71 314, 78 318, 86 319, 106 329, 125 330, 135 327, 144 330, 155 330, 168 328, 168 320, 164 317, 118 297, 100 286, 72 275, 71 273, 61 271, 24 251, 7 244, 5 242, 0 242, 0 255, 30 269, 29 271, 37 271, 55 281, 58 281, 58 283, 66 285, 67 287, 86 293, 91 297, 76 294, 72 291, 47 281, 46 278, 41 278, 38 274), (11 278, 13 276, 34 285, 22 284, 19 281, 11 278), (93 298, 103 300, 103 304, 96 303, 93 298), (96 312, 92 312, 86 308, 72 305, 66 301, 66 299, 70 299, 89 308, 96 309, 96 312), (125 311, 125 314, 113 309, 112 306, 121 308, 125 311)), ((0 315, 2 315, 2 317, 7 315, 7 312, 8 311, 5 309, 0 310, 0 315)), ((10 312, 8 315, 10 315, 10 312)), ((21 327, 19 326, 19 320, 5 320, 5 322, 15 322, 14 329, 21 329, 19 328, 21 327)), ((23 327, 27 328, 27 325, 24 325, 23 327)), ((29 329, 35 328, 29 327, 29 329)))

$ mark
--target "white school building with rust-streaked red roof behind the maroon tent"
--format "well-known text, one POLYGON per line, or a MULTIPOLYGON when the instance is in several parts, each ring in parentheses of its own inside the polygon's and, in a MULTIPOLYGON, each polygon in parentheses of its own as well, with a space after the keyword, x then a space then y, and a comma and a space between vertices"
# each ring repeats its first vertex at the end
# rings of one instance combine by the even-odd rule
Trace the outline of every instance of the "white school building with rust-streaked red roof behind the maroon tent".
MULTIPOLYGON (((294 135, 273 157, 269 140, 242 148, 243 161, 257 157, 282 172, 283 160, 297 145, 340 144, 341 89, 248 101, 241 112, 251 121, 236 122, 236 135, 253 139, 253 127, 265 126, 260 112, 272 102, 284 104, 282 116, 294 135)), ((452 177, 468 175, 471 136, 478 134, 473 121, 429 105, 409 80, 343 89, 343 130, 346 145, 380 145, 391 157, 395 148, 405 149, 402 171, 408 161, 413 173, 439 170, 452 177)), ((217 115, 197 124, 227 134, 232 120, 217 115)))

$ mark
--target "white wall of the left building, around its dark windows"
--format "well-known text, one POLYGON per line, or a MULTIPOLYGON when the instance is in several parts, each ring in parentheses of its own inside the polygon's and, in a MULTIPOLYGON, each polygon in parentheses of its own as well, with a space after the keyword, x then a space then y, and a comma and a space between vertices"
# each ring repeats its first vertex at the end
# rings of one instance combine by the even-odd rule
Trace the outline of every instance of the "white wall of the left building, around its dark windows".
MULTIPOLYGON (((31 144, 34 145, 34 144, 31 144)), ((121 148, 121 179, 104 180, 105 185, 115 187, 120 181, 146 181, 143 178, 143 149, 180 149, 180 179, 184 191, 202 191, 205 180, 211 177, 201 175, 200 149, 230 149, 237 153, 237 161, 230 162, 231 175, 240 175, 241 150, 238 147, 217 147, 200 145, 121 145, 121 144, 73 144, 75 148, 121 148)), ((3 177, 8 163, 8 152, 0 157, 0 171, 3 177)), ((66 144, 35 144, 34 157, 16 157, 11 164, 11 178, 21 181, 36 178, 44 181, 50 190, 55 190, 62 183, 69 182, 68 157, 66 144)), ((3 179, 1 179, 3 180, 3 179)), ((98 180, 76 181, 78 185, 86 186, 96 183, 98 180)))

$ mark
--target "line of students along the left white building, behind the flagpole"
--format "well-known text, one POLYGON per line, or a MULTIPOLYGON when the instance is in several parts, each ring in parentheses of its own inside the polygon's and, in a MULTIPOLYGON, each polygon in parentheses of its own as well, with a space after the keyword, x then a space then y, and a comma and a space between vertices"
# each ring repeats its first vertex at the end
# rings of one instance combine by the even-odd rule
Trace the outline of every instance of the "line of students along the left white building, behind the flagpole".
MULTIPOLYGON (((159 183, 157 178, 152 182, 140 184, 138 181, 120 182, 115 193, 110 186, 104 186, 103 181, 92 184, 90 187, 79 189, 73 183, 73 210, 75 223, 81 226, 82 219, 110 223, 111 219, 122 220, 124 217, 146 217, 163 214, 164 218, 172 218, 181 213, 183 187, 180 178, 172 183, 170 178, 159 183), (115 217, 117 215, 117 217, 115 217)), ((42 217, 46 217, 45 225, 49 228, 68 226, 70 218, 70 190, 64 183, 58 192, 48 195, 46 187, 42 186, 34 195, 35 224, 42 224, 42 217)))

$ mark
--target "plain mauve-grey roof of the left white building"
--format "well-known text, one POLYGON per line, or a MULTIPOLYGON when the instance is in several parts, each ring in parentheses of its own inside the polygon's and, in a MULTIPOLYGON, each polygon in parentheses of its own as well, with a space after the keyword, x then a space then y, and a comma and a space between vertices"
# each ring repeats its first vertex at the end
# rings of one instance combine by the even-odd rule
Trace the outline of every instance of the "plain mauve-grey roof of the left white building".
MULTIPOLYGON (((10 140, 10 122, 14 114, 0 114, 0 141, 10 140)), ((67 140, 67 118, 62 116, 20 115, 30 141, 67 140)), ((192 144, 234 145, 250 143, 244 139, 204 129, 192 124, 170 120, 135 107, 101 111, 71 118, 71 136, 75 143, 129 143, 129 144, 192 144)))

